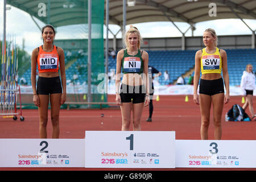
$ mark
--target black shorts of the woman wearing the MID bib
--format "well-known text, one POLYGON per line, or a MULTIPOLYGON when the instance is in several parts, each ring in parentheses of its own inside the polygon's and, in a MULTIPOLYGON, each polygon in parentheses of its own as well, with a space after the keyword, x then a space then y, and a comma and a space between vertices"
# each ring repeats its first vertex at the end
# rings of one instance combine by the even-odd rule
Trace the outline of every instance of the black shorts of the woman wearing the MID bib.
POLYGON ((62 93, 60 77, 38 77, 38 85, 36 88, 38 95, 48 95, 52 93, 62 93))

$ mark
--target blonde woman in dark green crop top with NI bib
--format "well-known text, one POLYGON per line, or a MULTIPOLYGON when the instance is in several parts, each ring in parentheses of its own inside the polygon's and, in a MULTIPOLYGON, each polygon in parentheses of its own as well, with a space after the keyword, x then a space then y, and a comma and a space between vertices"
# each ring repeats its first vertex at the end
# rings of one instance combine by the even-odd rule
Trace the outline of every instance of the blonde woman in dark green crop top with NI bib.
POLYGON ((133 111, 133 130, 141 130, 143 105, 148 106, 148 53, 141 51, 141 34, 131 26, 126 32, 125 49, 117 53, 117 69, 115 76, 115 102, 120 105, 122 113, 122 131, 129 130, 131 111, 133 111), (123 73, 122 85, 121 69, 123 73))

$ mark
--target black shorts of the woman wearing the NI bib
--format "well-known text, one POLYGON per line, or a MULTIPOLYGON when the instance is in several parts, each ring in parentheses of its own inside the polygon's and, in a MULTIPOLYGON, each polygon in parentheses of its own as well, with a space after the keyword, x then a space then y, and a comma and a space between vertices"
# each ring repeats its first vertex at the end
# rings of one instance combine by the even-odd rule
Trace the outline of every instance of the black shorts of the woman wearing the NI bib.
POLYGON ((133 99, 133 104, 142 103, 145 101, 146 88, 144 85, 130 86, 126 84, 121 85, 120 97, 121 102, 131 102, 133 99))

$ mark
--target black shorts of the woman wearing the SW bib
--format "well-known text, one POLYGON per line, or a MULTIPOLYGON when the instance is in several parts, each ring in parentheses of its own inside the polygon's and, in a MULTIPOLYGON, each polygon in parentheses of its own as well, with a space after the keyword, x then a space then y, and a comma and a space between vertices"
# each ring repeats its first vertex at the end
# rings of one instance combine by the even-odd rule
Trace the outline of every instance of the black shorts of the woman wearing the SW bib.
POLYGON ((213 96, 214 94, 224 93, 223 79, 204 80, 200 79, 199 93, 213 96))

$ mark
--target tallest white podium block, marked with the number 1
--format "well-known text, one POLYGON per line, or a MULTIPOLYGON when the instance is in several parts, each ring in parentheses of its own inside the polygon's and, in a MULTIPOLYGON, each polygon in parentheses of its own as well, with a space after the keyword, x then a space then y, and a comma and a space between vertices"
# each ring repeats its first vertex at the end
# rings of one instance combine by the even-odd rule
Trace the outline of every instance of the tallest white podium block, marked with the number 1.
POLYGON ((85 131, 85 167, 175 168, 175 131, 85 131))

